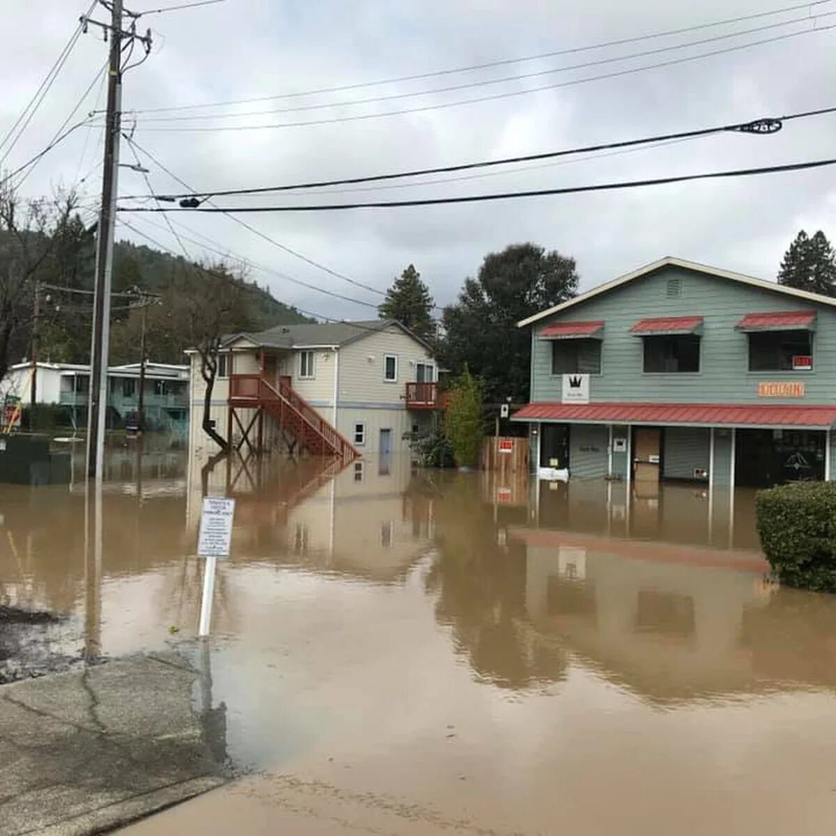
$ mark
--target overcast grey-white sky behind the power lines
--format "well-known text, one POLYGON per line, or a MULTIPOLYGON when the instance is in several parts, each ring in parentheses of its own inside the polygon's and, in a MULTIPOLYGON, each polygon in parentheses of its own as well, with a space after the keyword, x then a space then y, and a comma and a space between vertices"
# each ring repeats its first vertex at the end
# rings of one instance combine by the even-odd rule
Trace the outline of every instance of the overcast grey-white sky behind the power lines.
MULTIPOLYGON (((133 0, 127 5, 143 11, 177 2, 185 0, 133 0)), ((211 190, 489 160, 836 104, 836 29, 809 31, 814 26, 836 24, 836 2, 832 2, 730 26, 460 74, 213 109, 142 112, 279 96, 517 59, 790 4, 791 0, 769 4, 757 0, 704 0, 700 4, 663 0, 226 0, 140 20, 140 28, 152 28, 155 45, 145 64, 125 76, 125 111, 137 111, 135 116, 126 115, 125 120, 128 126, 135 124, 135 140, 172 173, 196 189, 211 190), (810 14, 818 19, 799 19, 810 14), (538 73, 793 20, 796 22, 786 26, 618 63, 471 89, 368 104, 339 104, 538 73), (658 69, 477 104, 325 125, 222 132, 182 130, 328 120, 446 104, 584 79, 796 32, 803 34, 658 69), (310 109, 314 104, 334 106, 310 109), (302 107, 308 110, 288 112, 302 107), (217 116, 268 110, 286 112, 234 119, 217 116), (152 121, 207 114, 215 116, 152 121)), ((3 0, 0 139, 37 89, 88 5, 88 0, 38 0, 37 4, 31 0, 3 0)), ((105 19, 107 13, 99 8, 97 16, 105 19)), ((21 165, 47 144, 94 79, 106 53, 101 34, 90 28, 8 155, 3 164, 7 170, 21 165)), ((76 118, 97 106, 104 106, 102 83, 94 84, 76 118)), ((0 157, 5 150, 0 149, 0 157)), ((558 165, 540 163, 533 169, 532 163, 507 166, 501 175, 419 186, 393 188, 385 184, 383 189, 378 186, 371 190, 364 186, 368 191, 345 191, 342 187, 329 202, 573 186, 813 160, 834 156, 834 150, 836 115, 818 116, 789 122, 772 136, 719 135, 594 159, 564 159, 558 165), (529 170, 520 171, 523 168, 529 170)), ((43 194, 58 184, 73 186, 89 173, 79 188, 92 212, 100 189, 100 158, 101 130, 76 130, 43 158, 21 190, 29 195, 43 194)), ((133 161, 125 146, 123 160, 133 161)), ((180 189, 163 171, 145 162, 155 191, 180 189)), ((426 179, 437 181, 451 176, 426 179)), ((140 174, 121 170, 121 194, 146 192, 140 174)), ((268 199, 219 198, 218 202, 298 204, 322 200, 323 193, 286 193, 268 199)), ((125 220, 166 247, 178 247, 161 215, 126 216, 125 220)), ((247 257, 272 270, 253 270, 251 275, 260 283, 268 283, 284 302, 331 317, 359 319, 375 315, 371 308, 279 278, 275 273, 368 303, 380 301, 375 293, 352 287, 304 263, 228 217, 189 214, 172 220, 209 237, 224 252, 247 257)), ((247 215, 244 220, 285 246, 375 288, 385 289, 406 264, 415 263, 440 304, 456 297, 462 280, 477 273, 487 252, 523 241, 573 256, 582 289, 663 255, 774 278, 782 252, 800 228, 808 232, 822 228, 828 237, 836 238, 836 167, 585 196, 247 215)), ((118 234, 144 242, 124 227, 118 234)), ((201 255, 199 247, 184 243, 192 256, 201 255)))

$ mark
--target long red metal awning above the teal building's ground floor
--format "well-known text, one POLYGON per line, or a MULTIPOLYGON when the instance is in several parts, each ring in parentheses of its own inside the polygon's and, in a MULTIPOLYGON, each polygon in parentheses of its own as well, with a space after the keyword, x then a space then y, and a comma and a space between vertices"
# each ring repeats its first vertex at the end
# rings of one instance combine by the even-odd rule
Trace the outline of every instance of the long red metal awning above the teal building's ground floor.
POLYGON ((806 427, 825 430, 836 423, 836 405, 536 403, 515 412, 513 421, 567 424, 686 424, 688 426, 806 427))

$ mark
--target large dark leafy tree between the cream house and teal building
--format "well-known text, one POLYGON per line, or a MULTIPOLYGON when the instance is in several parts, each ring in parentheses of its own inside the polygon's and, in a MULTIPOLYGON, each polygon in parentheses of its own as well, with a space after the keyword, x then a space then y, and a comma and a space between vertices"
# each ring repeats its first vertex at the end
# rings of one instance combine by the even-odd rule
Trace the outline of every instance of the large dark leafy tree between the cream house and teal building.
POLYGON ((489 253, 477 278, 466 278, 458 302, 444 311, 441 362, 478 375, 490 403, 528 400, 531 334, 517 322, 577 291, 573 258, 533 243, 489 253))

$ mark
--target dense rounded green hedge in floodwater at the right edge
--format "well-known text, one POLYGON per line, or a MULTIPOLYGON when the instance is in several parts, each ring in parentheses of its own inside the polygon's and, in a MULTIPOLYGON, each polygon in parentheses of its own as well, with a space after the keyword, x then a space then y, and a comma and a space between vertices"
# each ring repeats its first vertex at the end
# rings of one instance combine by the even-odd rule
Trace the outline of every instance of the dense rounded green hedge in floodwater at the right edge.
POLYGON ((777 579, 836 592, 836 484, 796 482, 757 494, 757 533, 777 579))

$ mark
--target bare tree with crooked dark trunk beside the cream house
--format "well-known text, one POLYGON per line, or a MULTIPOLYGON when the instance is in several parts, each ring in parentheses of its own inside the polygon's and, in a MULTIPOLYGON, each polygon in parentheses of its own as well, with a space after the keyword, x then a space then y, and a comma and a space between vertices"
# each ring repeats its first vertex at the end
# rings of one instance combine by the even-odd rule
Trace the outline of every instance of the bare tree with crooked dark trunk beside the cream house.
POLYGON ((229 440, 212 425, 212 390, 224 336, 248 327, 248 293, 247 284, 223 263, 192 265, 184 262, 163 303, 171 318, 172 330, 197 352, 201 378, 206 384, 203 431, 224 451, 229 448, 229 440))

